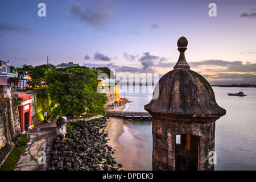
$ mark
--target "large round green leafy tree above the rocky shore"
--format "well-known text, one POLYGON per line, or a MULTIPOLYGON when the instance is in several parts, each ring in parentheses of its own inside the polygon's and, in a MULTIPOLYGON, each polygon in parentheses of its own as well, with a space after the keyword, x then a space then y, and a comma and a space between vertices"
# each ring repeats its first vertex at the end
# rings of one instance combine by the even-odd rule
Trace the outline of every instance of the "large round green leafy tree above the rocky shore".
POLYGON ((97 92, 97 75, 88 67, 52 68, 44 77, 52 106, 66 116, 85 111, 105 114, 106 96, 97 92))

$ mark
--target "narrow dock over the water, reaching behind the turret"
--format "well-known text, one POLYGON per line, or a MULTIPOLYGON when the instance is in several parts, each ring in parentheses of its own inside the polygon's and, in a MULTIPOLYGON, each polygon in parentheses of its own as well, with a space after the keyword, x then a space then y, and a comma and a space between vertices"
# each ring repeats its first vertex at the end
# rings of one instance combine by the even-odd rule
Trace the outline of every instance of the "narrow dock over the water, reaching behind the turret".
POLYGON ((106 116, 109 117, 123 117, 124 119, 126 118, 148 118, 149 120, 151 119, 151 115, 148 112, 123 112, 123 111, 108 111, 106 116))

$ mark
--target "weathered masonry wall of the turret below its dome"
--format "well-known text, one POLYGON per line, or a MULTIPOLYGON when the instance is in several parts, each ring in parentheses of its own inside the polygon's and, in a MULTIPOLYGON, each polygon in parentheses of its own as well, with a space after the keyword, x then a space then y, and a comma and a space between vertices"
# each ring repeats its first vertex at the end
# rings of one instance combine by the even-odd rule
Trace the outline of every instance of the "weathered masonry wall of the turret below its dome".
POLYGON ((192 118, 164 118, 154 115, 152 120, 152 169, 175 171, 176 156, 184 155, 184 150, 179 150, 176 145, 176 135, 193 135, 199 138, 198 170, 214 170, 214 165, 208 162, 208 155, 210 151, 214 151, 216 119, 208 118, 204 122, 196 122, 196 119, 193 121, 192 118))

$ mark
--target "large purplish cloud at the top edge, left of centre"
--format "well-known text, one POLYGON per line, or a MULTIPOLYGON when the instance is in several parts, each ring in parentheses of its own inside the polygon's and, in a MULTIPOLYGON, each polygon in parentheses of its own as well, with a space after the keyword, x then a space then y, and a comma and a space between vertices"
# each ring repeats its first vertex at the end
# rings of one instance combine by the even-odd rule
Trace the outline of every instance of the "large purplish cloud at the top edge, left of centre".
POLYGON ((76 1, 69 12, 71 16, 83 23, 90 24, 98 30, 105 30, 113 19, 116 7, 110 1, 76 1))

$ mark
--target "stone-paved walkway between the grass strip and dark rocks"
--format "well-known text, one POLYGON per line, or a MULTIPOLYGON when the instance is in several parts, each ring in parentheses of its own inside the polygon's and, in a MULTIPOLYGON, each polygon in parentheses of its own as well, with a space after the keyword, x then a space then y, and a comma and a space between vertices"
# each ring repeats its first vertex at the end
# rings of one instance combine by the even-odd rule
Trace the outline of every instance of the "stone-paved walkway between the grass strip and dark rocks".
POLYGON ((56 137, 56 121, 57 119, 52 119, 50 124, 42 123, 28 131, 30 139, 14 171, 46 171, 48 169, 52 144, 56 137), (39 151, 45 152, 45 160, 38 160, 44 156, 39 151), (45 161, 46 164, 42 164, 41 161, 45 161))

